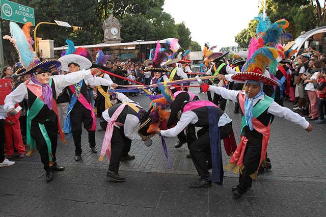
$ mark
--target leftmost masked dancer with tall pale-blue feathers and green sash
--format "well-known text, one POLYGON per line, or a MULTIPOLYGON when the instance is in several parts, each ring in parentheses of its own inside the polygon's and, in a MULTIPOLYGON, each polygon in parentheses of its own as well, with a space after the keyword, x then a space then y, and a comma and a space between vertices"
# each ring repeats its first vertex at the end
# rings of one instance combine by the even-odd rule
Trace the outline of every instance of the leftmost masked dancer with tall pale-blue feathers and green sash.
POLYGON ((33 40, 30 36, 31 22, 26 23, 21 30, 19 26, 10 22, 9 39, 16 47, 23 68, 18 69, 18 76, 31 74, 32 77, 20 84, 5 99, 5 110, 14 114, 14 106, 23 99, 28 100, 27 113, 27 144, 30 155, 35 148, 41 155, 41 161, 46 171, 46 181, 52 180, 52 171, 63 171, 63 167, 57 164, 57 133, 59 131, 61 140, 64 141, 61 130, 56 99, 63 88, 84 79, 98 70, 82 70, 68 75, 51 76, 51 69, 59 68, 61 62, 58 60, 46 60, 41 62, 32 48, 33 40))

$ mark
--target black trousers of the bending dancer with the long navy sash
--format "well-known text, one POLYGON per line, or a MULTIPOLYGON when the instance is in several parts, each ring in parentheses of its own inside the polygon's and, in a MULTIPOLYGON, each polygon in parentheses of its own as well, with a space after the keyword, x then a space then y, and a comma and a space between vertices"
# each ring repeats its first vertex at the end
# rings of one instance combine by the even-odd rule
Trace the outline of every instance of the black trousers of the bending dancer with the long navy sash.
POLYGON ((210 152, 209 130, 207 128, 201 128, 197 132, 198 139, 193 140, 188 145, 192 160, 198 172, 198 175, 202 178, 209 178, 209 172, 207 168, 207 153, 210 152))

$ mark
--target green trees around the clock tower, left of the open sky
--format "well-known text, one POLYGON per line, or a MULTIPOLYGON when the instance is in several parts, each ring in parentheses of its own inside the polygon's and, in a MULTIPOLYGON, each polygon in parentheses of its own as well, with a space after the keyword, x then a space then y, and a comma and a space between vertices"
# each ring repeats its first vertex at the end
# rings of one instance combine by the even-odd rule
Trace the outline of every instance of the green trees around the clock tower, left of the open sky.
MULTIPOLYGON (((60 20, 83 28, 82 32, 73 32, 71 28, 41 24, 37 29, 37 37, 54 40, 55 47, 66 45, 67 38, 73 40, 75 45, 103 43, 102 24, 110 13, 122 25, 123 42, 179 38, 184 49, 191 45, 191 32, 184 23, 175 24, 171 15, 163 11, 164 0, 12 1, 34 8, 35 23, 60 20)), ((3 35, 10 35, 9 21, 1 20, 1 28, 3 35)), ((3 46, 6 65, 13 65, 18 61, 13 45, 3 40, 3 46)), ((196 49, 200 49, 200 46, 196 49)))

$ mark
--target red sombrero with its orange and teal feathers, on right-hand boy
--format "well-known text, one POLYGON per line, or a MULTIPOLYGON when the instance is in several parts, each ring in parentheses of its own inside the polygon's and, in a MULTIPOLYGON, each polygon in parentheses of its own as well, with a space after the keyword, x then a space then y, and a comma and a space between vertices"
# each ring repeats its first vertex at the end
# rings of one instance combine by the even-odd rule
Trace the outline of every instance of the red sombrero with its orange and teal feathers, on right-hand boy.
POLYGON ((276 85, 279 83, 264 75, 265 68, 269 67, 270 73, 275 74, 278 61, 278 50, 275 47, 261 47, 242 67, 242 72, 231 76, 231 79, 245 82, 246 80, 256 80, 266 85, 276 85))

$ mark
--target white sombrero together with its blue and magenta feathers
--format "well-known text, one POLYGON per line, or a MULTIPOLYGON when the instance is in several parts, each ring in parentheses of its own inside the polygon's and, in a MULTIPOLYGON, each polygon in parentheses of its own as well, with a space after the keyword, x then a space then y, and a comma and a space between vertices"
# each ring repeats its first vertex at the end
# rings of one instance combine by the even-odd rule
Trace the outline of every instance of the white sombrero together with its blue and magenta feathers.
POLYGON ((68 44, 68 49, 65 55, 59 58, 59 61, 62 63, 61 69, 69 71, 70 64, 79 66, 80 70, 89 69, 92 66, 89 51, 84 47, 75 49, 73 42, 69 39, 66 39, 66 43, 68 44))

